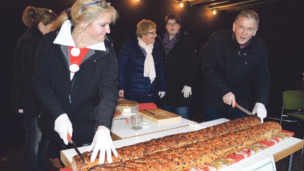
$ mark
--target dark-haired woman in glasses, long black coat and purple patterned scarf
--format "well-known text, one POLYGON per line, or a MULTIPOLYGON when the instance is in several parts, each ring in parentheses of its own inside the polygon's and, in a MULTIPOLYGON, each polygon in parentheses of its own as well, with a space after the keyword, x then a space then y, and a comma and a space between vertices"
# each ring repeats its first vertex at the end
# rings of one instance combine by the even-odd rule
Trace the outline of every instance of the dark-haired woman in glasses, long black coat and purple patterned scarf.
POLYGON ((167 31, 158 36, 165 63, 168 91, 160 102, 163 109, 189 119, 191 87, 193 84, 197 53, 195 41, 187 31, 182 31, 179 15, 165 17, 167 31))

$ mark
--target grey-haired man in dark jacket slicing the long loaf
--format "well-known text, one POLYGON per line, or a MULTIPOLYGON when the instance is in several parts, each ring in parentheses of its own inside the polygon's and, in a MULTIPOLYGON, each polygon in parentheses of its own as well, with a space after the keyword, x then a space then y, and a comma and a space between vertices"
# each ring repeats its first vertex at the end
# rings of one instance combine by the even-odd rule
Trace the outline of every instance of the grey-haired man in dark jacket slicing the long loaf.
POLYGON ((235 103, 248 108, 250 83, 254 86, 255 107, 263 122, 267 115, 270 74, 267 45, 257 36, 259 16, 253 10, 243 10, 233 23, 233 29, 211 35, 203 55, 205 77, 205 120, 219 119, 226 112, 229 119, 246 116, 234 108, 235 103), (230 106, 231 105, 231 106, 230 106))

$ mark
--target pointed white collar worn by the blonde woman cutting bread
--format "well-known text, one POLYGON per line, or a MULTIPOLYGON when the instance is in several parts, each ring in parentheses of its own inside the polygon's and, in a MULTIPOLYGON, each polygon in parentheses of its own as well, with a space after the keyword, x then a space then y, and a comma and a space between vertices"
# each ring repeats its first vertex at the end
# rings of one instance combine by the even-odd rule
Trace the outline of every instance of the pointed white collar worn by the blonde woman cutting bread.
MULTIPOLYGON (((71 22, 70 20, 66 20, 62 26, 61 29, 56 37, 56 39, 54 40, 54 44, 61 44, 64 46, 72 46, 72 47, 76 47, 75 42, 72 38, 72 34, 71 34, 71 22)), ((106 47, 104 46, 104 42, 99 42, 97 44, 92 44, 89 46, 86 46, 86 48, 88 49, 93 49, 93 50, 101 50, 101 51, 106 51, 106 47)))

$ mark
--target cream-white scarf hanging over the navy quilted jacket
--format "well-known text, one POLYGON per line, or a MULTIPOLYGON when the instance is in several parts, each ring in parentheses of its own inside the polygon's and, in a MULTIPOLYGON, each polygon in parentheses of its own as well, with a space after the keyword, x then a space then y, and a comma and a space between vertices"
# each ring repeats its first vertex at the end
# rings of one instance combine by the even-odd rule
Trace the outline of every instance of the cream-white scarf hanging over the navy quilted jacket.
POLYGON ((152 56, 153 43, 146 45, 146 43, 144 43, 139 37, 137 37, 137 39, 138 45, 143 48, 147 54, 144 65, 144 77, 149 77, 152 84, 154 78, 156 77, 154 60, 152 56))

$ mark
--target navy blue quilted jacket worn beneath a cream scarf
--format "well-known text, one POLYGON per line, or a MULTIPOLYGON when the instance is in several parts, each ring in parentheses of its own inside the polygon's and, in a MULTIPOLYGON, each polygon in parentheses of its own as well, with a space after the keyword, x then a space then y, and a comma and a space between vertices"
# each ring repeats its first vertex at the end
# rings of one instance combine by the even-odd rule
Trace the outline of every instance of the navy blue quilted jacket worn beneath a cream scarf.
POLYGON ((137 35, 129 36, 120 49, 118 55, 119 90, 125 94, 150 95, 157 91, 166 91, 165 69, 159 51, 158 42, 153 45, 156 78, 150 83, 149 77, 144 77, 144 63, 146 56, 138 45, 137 35))

